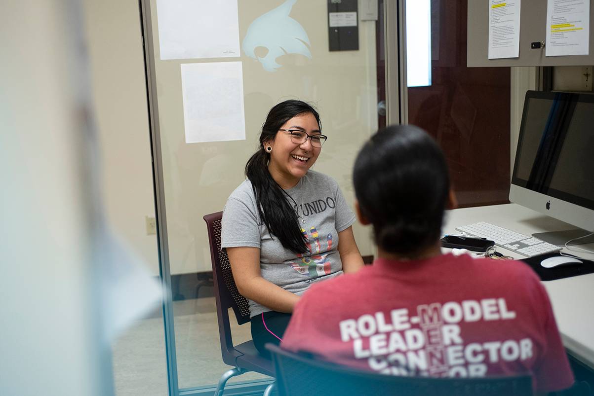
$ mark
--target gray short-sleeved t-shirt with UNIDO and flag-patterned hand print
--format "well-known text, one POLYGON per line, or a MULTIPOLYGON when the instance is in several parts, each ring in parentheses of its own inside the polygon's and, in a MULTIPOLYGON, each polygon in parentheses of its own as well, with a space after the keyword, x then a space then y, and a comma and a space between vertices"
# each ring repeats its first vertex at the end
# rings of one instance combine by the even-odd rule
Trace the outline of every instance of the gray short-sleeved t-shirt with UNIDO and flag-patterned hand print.
MULTIPOLYGON (((301 231, 308 239, 310 254, 285 249, 260 220, 252 183, 241 183, 230 195, 223 211, 221 247, 260 248, 260 272, 264 279, 301 295, 312 282, 342 274, 337 251, 338 233, 355 223, 336 180, 309 170, 299 183, 286 190, 291 206, 297 205, 301 231), (302 222, 305 220, 305 223, 302 222)), ((271 311, 249 300, 251 317, 271 311)))

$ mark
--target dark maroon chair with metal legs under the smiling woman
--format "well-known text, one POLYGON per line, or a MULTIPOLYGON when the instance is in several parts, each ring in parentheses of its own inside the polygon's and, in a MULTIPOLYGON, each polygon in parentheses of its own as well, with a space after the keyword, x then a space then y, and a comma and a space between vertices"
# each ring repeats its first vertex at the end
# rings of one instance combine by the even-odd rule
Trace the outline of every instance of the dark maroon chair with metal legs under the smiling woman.
MULTIPOLYGON (((229 325, 229 308, 233 308, 239 325, 249 322, 248 300, 239 294, 231 273, 231 265, 225 251, 221 251, 221 218, 223 212, 211 213, 204 216, 208 228, 210 242, 210 258, 213 265, 214 297, 217 303, 217 318, 219 319, 219 337, 221 354, 226 365, 233 369, 225 372, 219 380, 215 396, 222 394, 226 382, 233 376, 248 371, 255 371, 264 375, 274 376, 272 362, 261 356, 249 340, 233 346, 231 328, 229 325)), ((274 389, 274 382, 266 388, 264 396, 270 395, 274 389)))

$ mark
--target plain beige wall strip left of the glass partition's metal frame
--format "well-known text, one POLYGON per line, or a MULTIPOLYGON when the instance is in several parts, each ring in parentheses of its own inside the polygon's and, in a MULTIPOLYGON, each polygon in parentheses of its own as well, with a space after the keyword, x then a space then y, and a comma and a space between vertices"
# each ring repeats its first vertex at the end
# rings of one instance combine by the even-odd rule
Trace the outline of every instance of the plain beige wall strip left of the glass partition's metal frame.
POLYGON ((158 275, 156 235, 145 224, 154 198, 138 2, 83 4, 108 224, 158 275))

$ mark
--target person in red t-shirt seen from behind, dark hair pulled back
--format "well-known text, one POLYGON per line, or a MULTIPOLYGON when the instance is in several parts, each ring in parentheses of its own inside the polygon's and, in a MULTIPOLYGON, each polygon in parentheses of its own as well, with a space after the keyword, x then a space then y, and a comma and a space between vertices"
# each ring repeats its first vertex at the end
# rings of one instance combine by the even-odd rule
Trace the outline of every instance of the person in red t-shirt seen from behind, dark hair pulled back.
POLYGON ((355 161, 356 213, 378 258, 314 284, 281 347, 391 375, 479 377, 530 373, 536 391, 574 382, 551 303, 522 262, 442 254, 446 208, 456 206, 435 141, 389 126, 355 161))

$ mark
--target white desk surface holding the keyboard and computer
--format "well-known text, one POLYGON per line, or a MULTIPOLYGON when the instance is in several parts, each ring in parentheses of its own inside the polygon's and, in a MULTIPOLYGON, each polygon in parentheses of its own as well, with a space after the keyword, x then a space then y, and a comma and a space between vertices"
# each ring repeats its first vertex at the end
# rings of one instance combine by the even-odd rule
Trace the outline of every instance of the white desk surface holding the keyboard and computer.
MULTIPOLYGON (((526 235, 535 232, 567 230, 567 223, 544 216, 516 204, 455 209, 447 212, 444 233, 458 233, 456 227, 488 221, 526 235)), ((581 245, 594 250, 594 243, 581 245)), ((523 256, 497 246, 497 251, 514 258, 523 256)), ((594 255, 570 252, 594 260, 594 255)), ((543 282, 549 293, 565 348, 594 369, 594 273, 543 282)))

